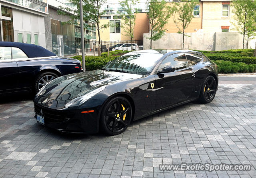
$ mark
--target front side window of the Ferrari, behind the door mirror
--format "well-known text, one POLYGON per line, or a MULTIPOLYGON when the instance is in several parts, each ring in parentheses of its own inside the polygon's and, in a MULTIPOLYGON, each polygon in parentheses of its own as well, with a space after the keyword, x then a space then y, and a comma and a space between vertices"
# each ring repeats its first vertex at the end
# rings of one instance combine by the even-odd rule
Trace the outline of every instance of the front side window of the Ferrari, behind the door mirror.
POLYGON ((169 55, 162 61, 157 71, 162 71, 164 67, 175 67, 175 70, 188 67, 188 61, 184 53, 169 55))

